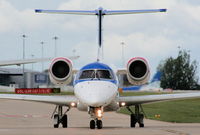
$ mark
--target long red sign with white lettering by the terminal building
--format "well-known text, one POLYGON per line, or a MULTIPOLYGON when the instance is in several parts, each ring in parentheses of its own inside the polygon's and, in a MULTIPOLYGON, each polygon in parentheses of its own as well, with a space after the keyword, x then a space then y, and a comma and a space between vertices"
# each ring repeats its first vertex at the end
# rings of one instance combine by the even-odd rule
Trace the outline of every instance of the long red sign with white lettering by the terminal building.
POLYGON ((15 89, 16 94, 49 94, 52 93, 51 88, 20 88, 15 89))

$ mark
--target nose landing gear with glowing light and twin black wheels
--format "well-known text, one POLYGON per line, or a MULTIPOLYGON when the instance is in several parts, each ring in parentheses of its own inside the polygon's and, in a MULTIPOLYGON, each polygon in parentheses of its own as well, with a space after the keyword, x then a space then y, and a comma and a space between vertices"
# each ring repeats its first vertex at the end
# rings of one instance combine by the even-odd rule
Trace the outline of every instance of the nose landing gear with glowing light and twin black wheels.
POLYGON ((89 107, 88 113, 93 120, 90 121, 90 129, 102 129, 103 122, 100 120, 102 118, 103 109, 101 107, 89 107))

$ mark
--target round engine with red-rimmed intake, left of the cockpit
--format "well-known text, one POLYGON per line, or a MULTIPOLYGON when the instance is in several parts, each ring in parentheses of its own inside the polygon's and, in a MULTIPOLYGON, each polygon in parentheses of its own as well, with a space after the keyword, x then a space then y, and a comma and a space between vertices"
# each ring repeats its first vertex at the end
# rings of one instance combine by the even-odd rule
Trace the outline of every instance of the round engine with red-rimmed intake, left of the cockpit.
POLYGON ((49 68, 50 80, 56 85, 66 85, 72 81, 72 62, 67 58, 55 58, 49 68))

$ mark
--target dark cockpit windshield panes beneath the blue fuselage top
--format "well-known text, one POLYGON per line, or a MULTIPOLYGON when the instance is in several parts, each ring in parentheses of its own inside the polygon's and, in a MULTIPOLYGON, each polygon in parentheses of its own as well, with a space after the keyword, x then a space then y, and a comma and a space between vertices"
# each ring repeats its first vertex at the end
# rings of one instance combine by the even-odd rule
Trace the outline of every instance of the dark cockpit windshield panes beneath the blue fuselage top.
POLYGON ((79 79, 113 79, 109 70, 85 70, 79 79))

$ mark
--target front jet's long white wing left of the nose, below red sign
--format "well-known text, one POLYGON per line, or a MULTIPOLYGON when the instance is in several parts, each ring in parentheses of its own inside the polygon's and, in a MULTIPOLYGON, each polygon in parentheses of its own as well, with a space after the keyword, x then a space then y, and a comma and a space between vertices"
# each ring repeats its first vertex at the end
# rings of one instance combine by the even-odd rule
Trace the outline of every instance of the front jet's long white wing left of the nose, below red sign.
POLYGON ((55 105, 70 106, 71 103, 77 103, 75 96, 39 96, 39 95, 18 95, 18 94, 0 94, 0 99, 22 100, 49 103, 55 105))

